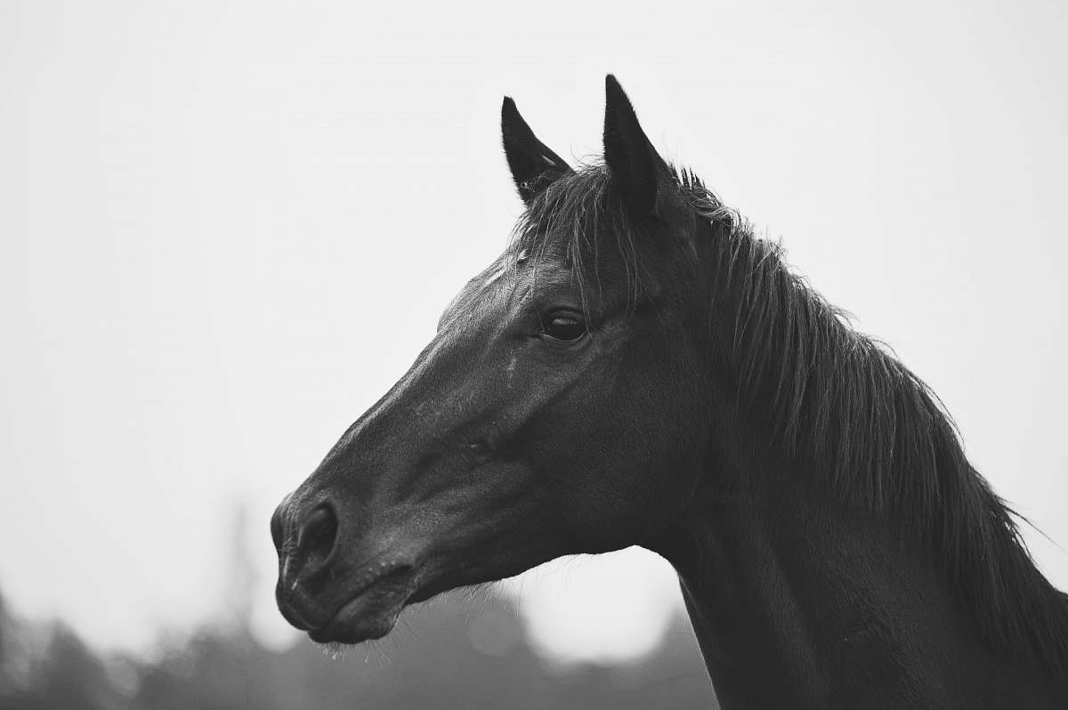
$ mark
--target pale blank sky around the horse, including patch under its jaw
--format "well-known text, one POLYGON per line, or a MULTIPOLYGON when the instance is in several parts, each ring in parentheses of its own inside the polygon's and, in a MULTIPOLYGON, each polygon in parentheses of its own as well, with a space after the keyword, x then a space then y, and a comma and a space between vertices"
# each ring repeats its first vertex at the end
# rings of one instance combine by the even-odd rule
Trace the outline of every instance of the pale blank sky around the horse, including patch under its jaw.
MULTIPOLYGON (((293 643, 271 509, 503 249, 501 96, 585 157, 608 72, 933 386, 1068 587, 1065 36, 1059 0, 0 2, 0 590, 141 648, 217 612, 244 509, 293 643)), ((557 662, 680 603, 638 551, 507 588, 557 662)))

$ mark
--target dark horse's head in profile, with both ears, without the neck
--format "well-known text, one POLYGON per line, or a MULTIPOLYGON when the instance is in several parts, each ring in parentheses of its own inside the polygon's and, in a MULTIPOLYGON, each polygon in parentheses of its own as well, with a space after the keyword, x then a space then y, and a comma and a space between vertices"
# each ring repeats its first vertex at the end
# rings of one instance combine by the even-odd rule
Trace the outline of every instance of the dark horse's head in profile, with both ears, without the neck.
POLYGON ((279 608, 313 640, 647 542, 696 485, 714 349, 678 180, 611 76, 603 164, 572 170, 511 98, 501 128, 514 238, 271 520, 279 608))

